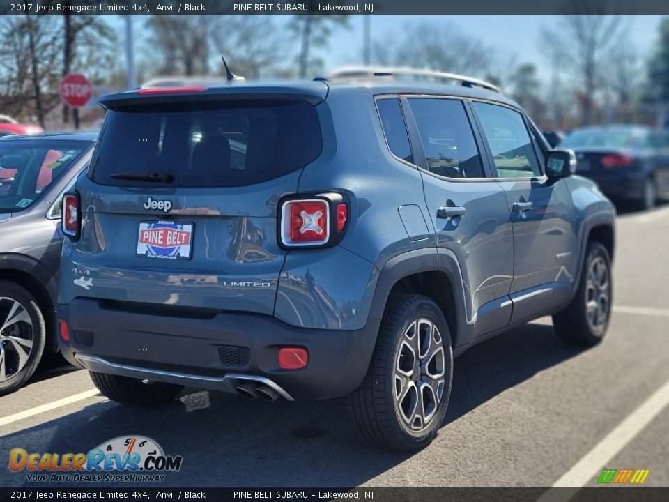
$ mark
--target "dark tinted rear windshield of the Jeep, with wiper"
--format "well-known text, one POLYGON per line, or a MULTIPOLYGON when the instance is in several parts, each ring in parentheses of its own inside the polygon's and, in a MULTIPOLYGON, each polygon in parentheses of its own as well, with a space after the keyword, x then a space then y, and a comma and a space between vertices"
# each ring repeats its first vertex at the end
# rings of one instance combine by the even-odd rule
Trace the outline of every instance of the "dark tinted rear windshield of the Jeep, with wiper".
POLYGON ((321 153, 313 105, 302 101, 182 102, 109 110, 89 177, 105 185, 251 185, 321 153))

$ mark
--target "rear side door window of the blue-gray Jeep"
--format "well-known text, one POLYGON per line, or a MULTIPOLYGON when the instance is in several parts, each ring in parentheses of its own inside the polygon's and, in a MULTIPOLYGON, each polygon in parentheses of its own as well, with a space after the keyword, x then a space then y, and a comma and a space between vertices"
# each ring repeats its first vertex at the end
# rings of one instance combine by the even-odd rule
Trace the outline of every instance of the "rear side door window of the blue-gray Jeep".
POLYGON ((447 178, 483 178, 472 126, 460 100, 409 98, 427 169, 447 178))

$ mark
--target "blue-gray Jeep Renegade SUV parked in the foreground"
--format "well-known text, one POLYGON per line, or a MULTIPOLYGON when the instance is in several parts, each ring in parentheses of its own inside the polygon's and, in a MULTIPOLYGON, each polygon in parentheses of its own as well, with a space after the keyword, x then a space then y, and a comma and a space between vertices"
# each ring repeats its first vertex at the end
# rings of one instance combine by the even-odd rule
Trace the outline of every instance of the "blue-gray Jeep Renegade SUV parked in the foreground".
POLYGON ((493 86, 396 73, 102 98, 64 199, 68 360, 132 405, 348 396, 369 441, 414 450, 468 347, 544 315, 597 344, 610 201, 493 86))

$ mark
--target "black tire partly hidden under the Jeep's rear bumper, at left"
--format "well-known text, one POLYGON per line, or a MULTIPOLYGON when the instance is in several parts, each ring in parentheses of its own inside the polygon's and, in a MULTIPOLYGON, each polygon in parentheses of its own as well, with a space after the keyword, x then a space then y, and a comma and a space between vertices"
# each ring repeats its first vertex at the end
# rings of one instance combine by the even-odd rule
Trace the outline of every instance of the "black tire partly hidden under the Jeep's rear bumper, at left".
POLYGON ((181 392, 183 386, 174 383, 148 382, 118 377, 118 375, 89 372, 102 395, 110 400, 128 406, 157 406, 173 400, 181 392))

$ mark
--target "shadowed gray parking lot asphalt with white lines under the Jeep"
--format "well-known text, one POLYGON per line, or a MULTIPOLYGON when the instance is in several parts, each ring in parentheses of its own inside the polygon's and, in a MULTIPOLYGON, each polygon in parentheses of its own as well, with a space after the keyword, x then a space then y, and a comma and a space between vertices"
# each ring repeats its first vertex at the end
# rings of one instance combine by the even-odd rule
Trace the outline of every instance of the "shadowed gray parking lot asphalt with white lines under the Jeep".
MULTIPOLYGON (((187 389, 128 409, 86 372, 53 363, 0 397, 0 463, 11 448, 88 452, 116 436, 182 455, 160 486, 594 486, 604 467, 650 469, 669 486, 669 205, 617 220, 614 312, 593 349, 562 345, 550 319, 455 361, 437 439, 414 455, 366 446, 339 400, 260 402, 187 389)), ((33 486, 0 468, 0 486, 33 486)))

